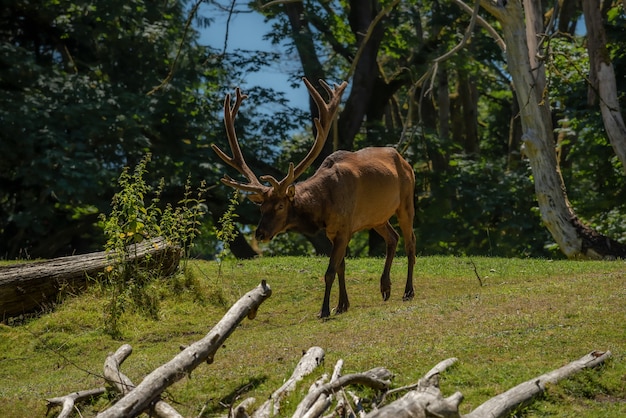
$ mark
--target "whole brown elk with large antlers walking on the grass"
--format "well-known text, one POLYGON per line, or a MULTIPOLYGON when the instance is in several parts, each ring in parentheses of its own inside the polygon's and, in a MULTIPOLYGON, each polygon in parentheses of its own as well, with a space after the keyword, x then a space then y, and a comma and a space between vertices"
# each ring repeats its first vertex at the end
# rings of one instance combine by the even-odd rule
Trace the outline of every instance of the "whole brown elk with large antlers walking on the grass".
POLYGON ((247 98, 237 88, 234 105, 231 107, 230 94, 224 101, 224 125, 233 156, 229 157, 215 144, 211 146, 226 164, 242 174, 248 182, 234 180, 228 175, 224 175, 221 181, 227 186, 248 192, 248 198, 260 205, 261 220, 255 233, 259 241, 268 242, 285 231, 313 234, 325 230, 333 247, 324 275, 324 301, 320 318, 330 316, 330 291, 335 276, 339 281, 339 303, 335 312, 346 312, 350 306, 345 283, 345 255, 352 235, 364 229, 374 229, 385 240, 386 259, 380 278, 380 292, 383 300, 389 299, 389 273, 399 239, 398 233, 389 223, 389 219, 395 215, 408 257, 403 300, 410 300, 414 296, 415 265, 413 168, 391 147, 370 147, 356 152, 336 151, 326 157, 313 176, 295 183, 322 151, 338 112, 341 95, 347 86, 344 81, 331 89, 320 80, 329 95, 329 101, 326 102, 306 78, 303 80, 319 110, 319 117, 313 121, 317 132, 315 141, 304 159, 295 167, 290 163, 287 175, 280 181, 269 175, 257 179, 243 158, 235 134, 233 120, 241 102, 247 98))

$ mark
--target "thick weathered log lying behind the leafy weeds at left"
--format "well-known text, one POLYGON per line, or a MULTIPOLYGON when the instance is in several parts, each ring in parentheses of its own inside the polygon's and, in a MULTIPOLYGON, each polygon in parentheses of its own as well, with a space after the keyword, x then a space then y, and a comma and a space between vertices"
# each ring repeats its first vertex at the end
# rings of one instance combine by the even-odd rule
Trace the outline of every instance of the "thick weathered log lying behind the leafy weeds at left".
MULTIPOLYGON (((176 270, 181 257, 180 249, 162 237, 135 244, 127 253, 129 261, 145 262, 164 275, 176 270)), ((96 277, 111 263, 109 253, 101 251, 0 267, 0 320, 54 305, 63 292, 84 289, 87 277, 96 277)))

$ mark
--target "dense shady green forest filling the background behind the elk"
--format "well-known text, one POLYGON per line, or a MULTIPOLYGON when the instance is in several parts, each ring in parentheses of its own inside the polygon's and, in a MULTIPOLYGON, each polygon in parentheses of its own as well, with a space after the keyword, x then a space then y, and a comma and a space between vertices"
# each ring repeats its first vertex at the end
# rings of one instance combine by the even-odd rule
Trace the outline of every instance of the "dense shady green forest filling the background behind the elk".
MULTIPOLYGON (((210 149, 226 143, 224 96, 250 73, 281 62, 289 63, 294 86, 303 76, 349 82, 319 161, 334 149, 393 145, 413 165, 418 254, 565 257, 542 222, 536 174, 521 151, 517 91, 502 45, 488 31, 500 22, 481 10, 484 24, 471 26, 470 3, 469 12, 459 1, 428 0, 1 4, 1 258, 102 249, 100 215, 110 211, 117 179, 147 154, 148 180, 155 189, 164 181, 162 205, 207 182, 194 256, 215 257, 222 245, 215 230, 232 199, 219 178, 234 176, 210 149), (236 13, 263 14, 271 30, 247 36, 281 45, 278 52, 226 48, 236 13), (227 28, 224 48, 202 45, 200 31, 218 22, 227 28), (461 39, 463 47, 441 59, 461 39)), ((535 58, 545 68, 542 97, 568 202, 585 225, 623 244, 626 179, 603 125, 589 59, 598 51, 585 30, 584 5, 541 3, 542 53, 535 58)), ((599 11, 601 51, 623 103, 624 2, 604 1, 599 11)), ((282 177, 311 145, 314 106, 296 107, 267 85, 247 85, 245 93, 236 120, 243 153, 257 174, 282 177)), ((258 209, 241 199, 235 256, 328 251, 323 236, 296 234, 261 247, 250 234, 257 219, 258 209)), ((382 255, 381 244, 364 232, 350 254, 382 255)))

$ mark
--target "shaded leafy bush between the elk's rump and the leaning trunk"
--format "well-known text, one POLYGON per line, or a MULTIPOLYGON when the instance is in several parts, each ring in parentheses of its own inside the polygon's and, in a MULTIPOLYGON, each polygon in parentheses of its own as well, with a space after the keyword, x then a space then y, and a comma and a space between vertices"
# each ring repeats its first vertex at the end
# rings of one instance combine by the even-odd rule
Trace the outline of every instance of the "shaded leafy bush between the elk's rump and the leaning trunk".
POLYGON ((536 214, 526 170, 507 171, 485 160, 456 156, 441 179, 443 192, 428 193, 417 207, 421 254, 506 257, 554 256, 551 238, 536 214))

